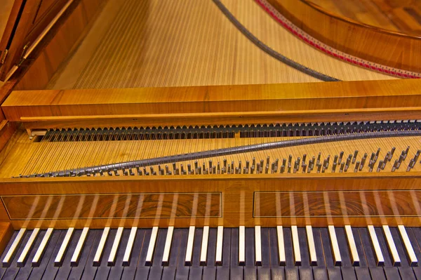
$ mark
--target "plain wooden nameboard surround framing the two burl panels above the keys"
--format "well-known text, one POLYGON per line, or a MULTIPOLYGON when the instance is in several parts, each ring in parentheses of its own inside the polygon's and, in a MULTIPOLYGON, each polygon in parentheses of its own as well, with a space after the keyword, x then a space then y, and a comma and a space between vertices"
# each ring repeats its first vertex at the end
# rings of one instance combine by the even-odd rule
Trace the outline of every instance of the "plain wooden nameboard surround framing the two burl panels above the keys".
MULTIPOLYGON (((387 192, 387 199, 391 201, 394 199, 401 198, 402 193, 410 193, 413 195, 412 190, 415 194, 420 192, 419 187, 420 173, 413 173, 411 175, 392 175, 392 173, 384 174, 372 174, 361 178, 354 174, 314 174, 305 176, 301 174, 290 175, 285 178, 280 178, 279 175, 267 174, 267 175, 214 175, 212 178, 197 177, 185 179, 180 176, 173 178, 166 178, 160 180, 152 176, 149 177, 135 177, 135 178, 26 178, 26 179, 4 179, 1 180, 0 194, 1 196, 16 196, 16 195, 34 195, 32 199, 27 201, 36 201, 36 197, 43 195, 54 195, 60 201, 60 194, 81 194, 77 196, 79 200, 86 199, 87 196, 83 194, 93 194, 100 192, 101 194, 126 194, 133 193, 133 197, 136 193, 142 192, 171 192, 171 193, 195 193, 195 192, 221 192, 222 193, 222 217, 221 218, 200 218, 193 215, 189 218, 166 218, 161 217, 161 211, 163 211, 162 204, 157 204, 155 209, 154 218, 113 218, 116 212, 109 214, 105 218, 93 218, 93 219, 63 219, 63 220, 33 220, 32 217, 26 217, 23 220, 11 220, 14 228, 25 227, 50 227, 55 228, 67 228, 69 226, 85 227, 89 226, 92 228, 100 228, 106 225, 116 227, 125 226, 130 227, 132 225, 138 225, 140 227, 152 227, 153 225, 159 225, 160 227, 168 227, 168 225, 175 225, 176 227, 188 227, 189 225, 224 225, 225 227, 238 227, 239 225, 246 225, 252 227, 254 225, 262 226, 275 226, 275 225, 313 225, 313 226, 326 226, 326 225, 353 225, 353 226, 364 226, 364 225, 407 225, 407 226, 420 226, 420 205, 417 200, 407 201, 408 206, 405 209, 396 207, 392 209, 393 215, 380 214, 375 215, 359 215, 351 216, 349 214, 328 216, 328 217, 255 217, 253 218, 253 210, 260 207, 260 203, 264 201, 255 200, 255 192, 308 192, 307 197, 312 197, 312 192, 318 193, 326 192, 329 196, 330 192, 337 193, 338 191, 367 191, 372 194, 376 194, 376 190, 379 186, 387 192), (371 192, 374 191, 374 192, 371 192), (254 199, 254 202, 253 202, 254 199), (404 211, 403 211, 404 210, 404 211)), ((348 192, 347 192, 348 193, 348 192)), ((386 192, 384 192, 386 193, 386 192)), ((76 197, 76 196, 72 196, 76 197)), ((127 198, 127 196, 125 196, 127 198)), ((140 197, 140 196, 139 196, 140 197)), ((376 205, 377 202, 372 199, 374 196, 364 196, 369 205, 376 205)), ((120 206, 129 206, 125 202, 120 203, 120 206)), ((41 200, 39 200, 41 201, 41 200)), ((48 201, 48 199, 43 199, 48 201)), ((63 196, 63 202, 65 198, 63 196)), ((118 201, 118 200, 116 200, 118 201)), ((195 201, 193 199, 193 201, 195 201)), ((83 202, 83 201, 82 201, 83 202)), ((174 206, 177 208, 178 201, 172 201, 174 206)), ((299 202, 299 201, 298 201, 299 202)), ((30 204, 30 203, 29 203, 30 204)), ((193 202, 194 204, 194 202, 193 202)), ((59 215, 63 208, 53 207, 55 204, 44 204, 47 212, 51 208, 51 211, 55 211, 55 214, 59 215)), ((138 204, 135 204, 138 205, 138 204)), ((392 204, 391 204, 392 205, 392 204)), ((399 204, 396 204, 396 206, 399 204)), ((92 205, 91 205, 92 206, 92 205)), ((98 204, 99 206, 99 204, 98 204)), ((93 205, 94 208, 89 211, 97 211, 97 205, 93 205)), ((300 204, 297 204, 299 207, 300 204)), ((333 211, 342 211, 344 204, 338 201, 332 200, 332 202, 326 200, 321 201, 319 206, 322 208, 333 208, 333 211)), ((38 206, 36 206, 38 207, 38 206)), ((116 208, 115 206, 109 206, 110 208, 116 208)), ((126 207, 126 208, 127 208, 126 207)), ((138 206, 133 206, 137 208, 138 206)), ((182 208, 182 206, 180 206, 182 208)), ((195 206, 196 207, 196 206, 195 206)), ((193 207, 192 209, 194 209, 193 207)), ((89 208, 88 205, 85 208, 89 208)), ((378 208, 378 207, 377 207, 378 208)), ((196 207, 199 209, 199 207, 196 207)), ((275 208, 276 209, 276 208, 275 208)), ((1 205, 1 220, 9 221, 8 214, 4 208, 4 204, 1 205)), ((134 210, 134 208, 133 208, 134 210)), ((27 211, 22 209, 22 211, 27 211)), ((116 211, 116 210, 114 210, 116 211)), ((118 209, 118 213, 123 213, 121 208, 118 209)), ((203 211, 203 210, 201 210, 203 211)), ((387 211, 387 209, 384 209, 387 211)), ((75 215, 77 212, 68 213, 69 215, 75 215)), ((167 213, 167 212, 166 212, 167 213)), ((389 213, 389 212, 387 212, 389 213)), ((78 214, 79 215, 79 214, 78 214)), ((258 215, 256 215, 258 216, 258 215)))

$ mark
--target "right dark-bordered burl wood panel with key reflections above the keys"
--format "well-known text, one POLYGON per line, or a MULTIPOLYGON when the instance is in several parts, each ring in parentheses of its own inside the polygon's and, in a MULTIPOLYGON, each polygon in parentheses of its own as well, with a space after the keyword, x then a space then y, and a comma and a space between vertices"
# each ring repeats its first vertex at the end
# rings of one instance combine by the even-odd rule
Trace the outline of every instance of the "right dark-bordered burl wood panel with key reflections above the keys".
POLYGON ((418 190, 394 190, 391 193, 388 191, 281 192, 279 196, 273 192, 255 192, 255 201, 259 200, 260 205, 255 204, 254 211, 260 213, 260 218, 278 215, 288 218, 342 217, 344 213, 347 213, 348 217, 417 216, 418 213, 414 211, 411 200, 411 196, 414 195, 415 199, 421 199, 421 191, 418 190), (342 194, 344 200, 340 199, 342 194), (326 195, 328 199, 323 199, 326 195), (365 196, 364 201, 361 200, 361 195, 365 196), (375 196, 378 196, 378 201, 375 196), (293 201, 293 208, 291 208, 291 201, 293 201), (276 213, 276 204, 280 205, 281 213, 276 213), (309 208, 308 213, 305 209, 306 204, 309 208))

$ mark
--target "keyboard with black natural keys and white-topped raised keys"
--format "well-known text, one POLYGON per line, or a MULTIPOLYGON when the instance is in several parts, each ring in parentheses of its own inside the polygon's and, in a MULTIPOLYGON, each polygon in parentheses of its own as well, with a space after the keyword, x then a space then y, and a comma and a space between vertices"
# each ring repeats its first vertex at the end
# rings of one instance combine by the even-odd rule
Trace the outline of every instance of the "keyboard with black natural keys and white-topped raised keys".
POLYGON ((1 279, 421 279, 419 227, 25 229, 1 279))

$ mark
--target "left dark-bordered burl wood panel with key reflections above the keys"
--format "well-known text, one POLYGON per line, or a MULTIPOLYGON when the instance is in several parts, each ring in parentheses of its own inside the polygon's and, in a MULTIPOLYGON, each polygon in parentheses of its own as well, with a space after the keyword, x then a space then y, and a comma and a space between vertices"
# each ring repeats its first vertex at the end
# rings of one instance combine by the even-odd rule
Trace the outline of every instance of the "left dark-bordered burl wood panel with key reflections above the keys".
POLYGON ((208 193, 32 195, 1 196, 1 199, 11 220, 218 218, 222 214, 220 212, 221 195, 220 193, 209 194, 210 199, 208 199, 208 193), (173 207, 175 197, 178 200, 176 207, 173 207), (56 213, 62 199, 66 206, 56 213), (80 203, 82 199, 83 202, 80 203), (91 211, 91 205, 95 200, 98 202, 96 202, 95 209, 91 211), (137 208, 139 200, 142 200, 141 209, 137 208), (157 208, 157 205, 161 205, 160 209, 157 208), (209 213, 206 213, 207 207, 209 213), (135 216, 136 213, 140 216, 135 216))

